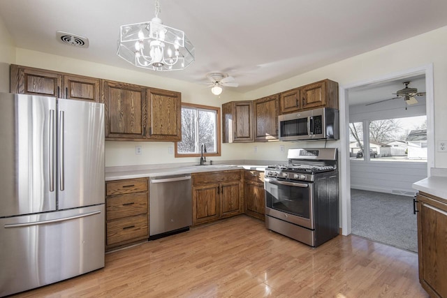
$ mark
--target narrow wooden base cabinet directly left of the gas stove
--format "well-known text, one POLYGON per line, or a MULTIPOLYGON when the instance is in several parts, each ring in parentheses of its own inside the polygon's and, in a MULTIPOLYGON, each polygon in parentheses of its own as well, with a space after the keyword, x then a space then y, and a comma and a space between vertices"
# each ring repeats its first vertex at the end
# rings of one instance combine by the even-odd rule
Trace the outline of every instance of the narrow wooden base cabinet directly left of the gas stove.
POLYGON ((265 220, 264 172, 244 170, 245 214, 265 220))

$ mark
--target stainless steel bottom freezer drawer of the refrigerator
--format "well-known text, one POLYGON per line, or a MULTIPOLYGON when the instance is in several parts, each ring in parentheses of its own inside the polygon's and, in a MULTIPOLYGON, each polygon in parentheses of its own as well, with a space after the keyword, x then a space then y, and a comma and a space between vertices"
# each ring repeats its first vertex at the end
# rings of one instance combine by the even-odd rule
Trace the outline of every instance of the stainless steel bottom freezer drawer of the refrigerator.
POLYGON ((104 211, 0 218, 0 297, 104 267, 104 211))

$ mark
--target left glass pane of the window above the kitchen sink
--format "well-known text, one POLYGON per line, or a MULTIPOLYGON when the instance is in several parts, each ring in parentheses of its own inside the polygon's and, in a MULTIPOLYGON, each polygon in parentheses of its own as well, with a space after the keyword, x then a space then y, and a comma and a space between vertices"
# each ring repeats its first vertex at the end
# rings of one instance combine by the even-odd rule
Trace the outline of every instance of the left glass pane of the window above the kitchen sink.
POLYGON ((177 142, 179 154, 196 153, 196 109, 182 107, 182 142, 177 142))

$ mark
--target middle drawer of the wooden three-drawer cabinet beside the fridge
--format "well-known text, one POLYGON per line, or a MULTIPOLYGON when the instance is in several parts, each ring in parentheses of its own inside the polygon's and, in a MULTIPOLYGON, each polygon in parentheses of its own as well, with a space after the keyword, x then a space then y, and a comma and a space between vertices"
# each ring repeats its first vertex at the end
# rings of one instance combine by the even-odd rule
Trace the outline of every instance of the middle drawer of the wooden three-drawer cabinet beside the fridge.
POLYGON ((106 198, 107 220, 147 213, 147 192, 106 198))

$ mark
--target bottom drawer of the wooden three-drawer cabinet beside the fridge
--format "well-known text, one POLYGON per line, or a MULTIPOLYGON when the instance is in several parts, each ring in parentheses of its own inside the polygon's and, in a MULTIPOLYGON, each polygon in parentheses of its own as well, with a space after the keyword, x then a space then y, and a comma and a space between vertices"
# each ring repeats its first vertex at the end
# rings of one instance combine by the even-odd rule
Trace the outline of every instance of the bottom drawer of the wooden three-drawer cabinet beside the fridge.
POLYGON ((147 214, 131 216, 107 223, 107 245, 138 237, 149 237, 147 214))

